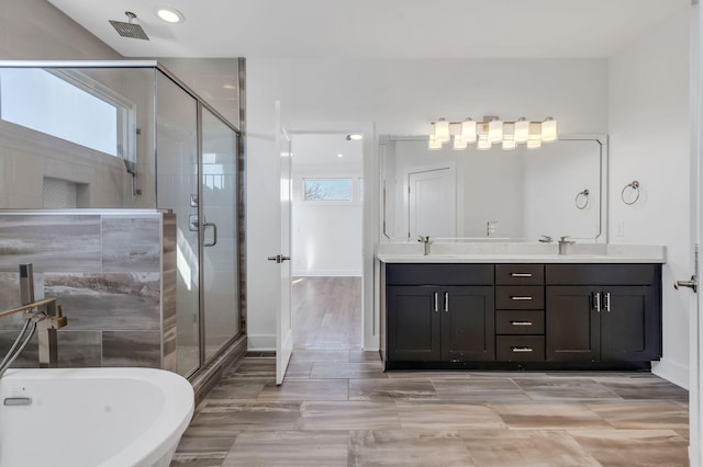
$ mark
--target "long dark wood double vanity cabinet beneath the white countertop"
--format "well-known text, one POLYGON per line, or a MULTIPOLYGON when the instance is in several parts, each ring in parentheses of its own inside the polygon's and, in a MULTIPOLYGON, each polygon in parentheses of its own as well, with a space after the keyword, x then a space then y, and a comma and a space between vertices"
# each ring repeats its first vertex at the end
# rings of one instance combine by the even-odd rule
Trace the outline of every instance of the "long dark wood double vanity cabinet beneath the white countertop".
POLYGON ((647 369, 661 356, 661 264, 382 265, 387 369, 647 369))

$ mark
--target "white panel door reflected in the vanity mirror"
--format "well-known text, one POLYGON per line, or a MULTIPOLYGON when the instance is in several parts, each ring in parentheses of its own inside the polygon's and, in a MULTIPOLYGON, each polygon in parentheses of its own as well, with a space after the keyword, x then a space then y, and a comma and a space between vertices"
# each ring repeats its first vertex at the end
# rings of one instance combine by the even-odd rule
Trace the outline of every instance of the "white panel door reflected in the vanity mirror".
POLYGON ((408 238, 456 237, 456 181, 449 168, 408 174, 408 238))

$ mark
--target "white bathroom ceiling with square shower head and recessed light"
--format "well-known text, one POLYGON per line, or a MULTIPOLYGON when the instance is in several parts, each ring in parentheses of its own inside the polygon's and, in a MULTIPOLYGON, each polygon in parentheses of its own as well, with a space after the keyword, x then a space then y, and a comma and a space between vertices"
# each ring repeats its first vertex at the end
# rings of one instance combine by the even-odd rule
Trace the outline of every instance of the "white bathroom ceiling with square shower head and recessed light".
POLYGON ((690 0, 48 0, 125 57, 607 57, 690 0), (157 5, 186 16, 167 24, 157 5), (137 14, 150 41, 108 20, 137 14))

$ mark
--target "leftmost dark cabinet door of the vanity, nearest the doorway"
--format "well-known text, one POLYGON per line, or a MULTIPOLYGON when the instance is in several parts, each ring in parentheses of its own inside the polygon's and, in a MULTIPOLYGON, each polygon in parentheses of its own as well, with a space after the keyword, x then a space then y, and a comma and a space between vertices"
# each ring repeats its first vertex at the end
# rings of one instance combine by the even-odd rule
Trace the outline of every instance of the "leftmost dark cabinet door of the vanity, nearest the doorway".
POLYGON ((388 286, 387 358, 437 362, 442 357, 442 294, 438 287, 388 286))

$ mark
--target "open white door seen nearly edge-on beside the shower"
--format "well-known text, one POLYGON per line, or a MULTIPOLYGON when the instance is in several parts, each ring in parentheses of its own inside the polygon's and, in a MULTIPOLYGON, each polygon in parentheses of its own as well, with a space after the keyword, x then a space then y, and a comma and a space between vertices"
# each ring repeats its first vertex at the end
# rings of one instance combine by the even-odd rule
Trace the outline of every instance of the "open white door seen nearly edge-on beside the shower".
MULTIPOLYGON (((280 236, 280 250, 270 261, 276 261, 279 274, 278 310, 276 312, 276 384, 283 383, 288 362, 293 352, 293 322, 290 305, 291 262, 290 262, 290 205, 291 205, 291 151, 290 138, 281 124, 281 103, 276 101, 275 111, 276 160, 279 163, 278 175, 278 214, 280 228, 274 235, 280 236)), ((274 289, 276 291, 276 289, 274 289)))

